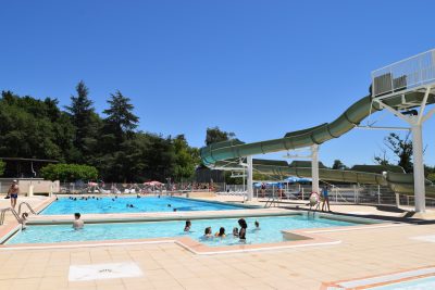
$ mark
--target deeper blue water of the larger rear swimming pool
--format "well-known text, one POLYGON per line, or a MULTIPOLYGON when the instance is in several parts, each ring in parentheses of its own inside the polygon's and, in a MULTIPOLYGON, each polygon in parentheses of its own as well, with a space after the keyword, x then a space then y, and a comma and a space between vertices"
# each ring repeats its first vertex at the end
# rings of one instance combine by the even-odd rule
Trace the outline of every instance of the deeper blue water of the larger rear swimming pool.
POLYGON ((144 213, 144 212, 190 212, 190 211, 221 211, 221 210, 241 210, 243 206, 231 204, 219 204, 206 201, 195 201, 188 199, 171 198, 171 197, 136 197, 129 198, 100 198, 76 201, 69 198, 60 198, 54 201, 46 210, 42 215, 55 214, 109 214, 109 213, 144 213), (127 207, 133 204, 134 207, 127 207), (167 206, 167 205, 171 206, 167 206))

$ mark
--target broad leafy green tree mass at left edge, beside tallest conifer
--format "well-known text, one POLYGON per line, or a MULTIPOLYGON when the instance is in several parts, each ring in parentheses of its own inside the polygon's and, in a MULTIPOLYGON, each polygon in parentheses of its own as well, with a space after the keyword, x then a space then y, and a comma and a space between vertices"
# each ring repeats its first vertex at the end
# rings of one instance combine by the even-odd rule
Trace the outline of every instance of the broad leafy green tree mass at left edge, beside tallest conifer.
POLYGON ((63 160, 71 150, 72 124, 58 100, 44 101, 2 91, 0 99, 0 155, 63 160), (62 128, 55 130, 54 128, 62 128))

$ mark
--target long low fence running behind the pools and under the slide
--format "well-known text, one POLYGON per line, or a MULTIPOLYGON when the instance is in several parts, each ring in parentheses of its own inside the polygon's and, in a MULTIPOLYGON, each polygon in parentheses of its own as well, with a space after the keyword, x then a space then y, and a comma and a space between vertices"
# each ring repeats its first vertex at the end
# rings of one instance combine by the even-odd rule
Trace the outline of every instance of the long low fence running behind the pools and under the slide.
MULTIPOLYGON (((0 185, 1 186, 1 185, 0 185)), ((140 184, 61 184, 60 193, 89 194, 89 193, 167 193, 167 192, 195 192, 215 191, 221 196, 245 196, 246 185, 215 184, 171 184, 161 186, 147 186, 140 184)), ((277 198, 283 200, 308 200, 311 194, 311 185, 284 184, 268 186, 264 192, 254 188, 254 198, 277 198)), ((414 205, 413 196, 399 196, 388 187, 375 185, 333 185, 330 189, 330 202, 352 204, 387 204, 395 205, 397 201, 401 205, 414 205)), ((426 206, 435 206, 435 199, 427 198, 426 206)))

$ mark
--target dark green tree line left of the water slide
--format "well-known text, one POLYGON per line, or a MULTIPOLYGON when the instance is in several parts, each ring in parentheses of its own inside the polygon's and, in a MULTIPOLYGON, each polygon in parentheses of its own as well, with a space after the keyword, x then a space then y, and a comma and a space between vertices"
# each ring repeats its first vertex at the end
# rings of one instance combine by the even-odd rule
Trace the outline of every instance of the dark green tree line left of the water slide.
POLYGON ((137 130, 139 117, 121 91, 109 96, 102 116, 89 94, 79 81, 63 110, 57 99, 2 91, 0 156, 92 165, 104 181, 192 178, 199 151, 184 135, 172 138, 137 130))

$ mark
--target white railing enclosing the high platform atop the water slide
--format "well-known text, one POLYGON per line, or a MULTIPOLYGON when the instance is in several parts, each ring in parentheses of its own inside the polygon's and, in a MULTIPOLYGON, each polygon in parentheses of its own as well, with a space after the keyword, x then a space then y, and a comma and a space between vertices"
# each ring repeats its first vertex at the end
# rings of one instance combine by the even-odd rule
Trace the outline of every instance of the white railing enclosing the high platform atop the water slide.
POLYGON ((372 72, 372 97, 378 98, 435 83, 435 49, 372 72))

